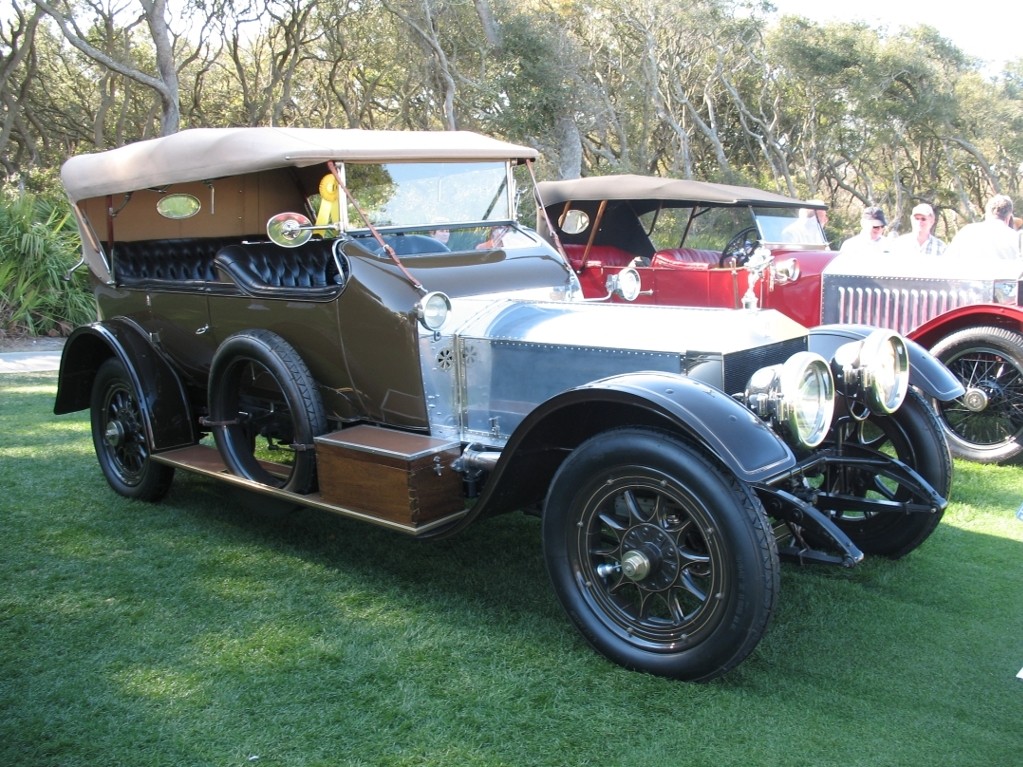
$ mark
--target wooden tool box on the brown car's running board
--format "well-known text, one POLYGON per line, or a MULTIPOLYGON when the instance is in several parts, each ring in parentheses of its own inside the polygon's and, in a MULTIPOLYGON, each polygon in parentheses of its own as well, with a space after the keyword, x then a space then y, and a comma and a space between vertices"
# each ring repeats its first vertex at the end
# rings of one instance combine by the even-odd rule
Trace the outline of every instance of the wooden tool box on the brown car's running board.
POLYGON ((451 468, 458 442, 358 425, 316 438, 324 501, 403 525, 460 511, 461 475, 451 468))

